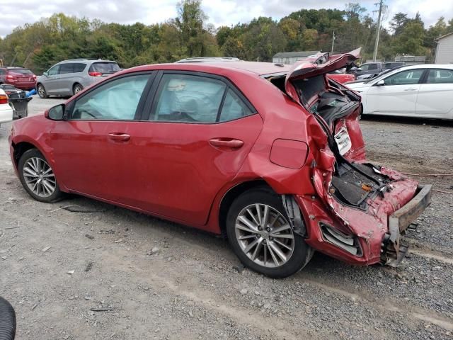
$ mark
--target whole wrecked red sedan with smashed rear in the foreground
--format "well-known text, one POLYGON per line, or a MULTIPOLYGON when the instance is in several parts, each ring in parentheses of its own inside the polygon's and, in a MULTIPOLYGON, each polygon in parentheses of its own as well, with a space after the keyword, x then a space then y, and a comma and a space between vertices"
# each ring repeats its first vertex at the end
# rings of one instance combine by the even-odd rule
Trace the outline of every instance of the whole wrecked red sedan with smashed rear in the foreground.
POLYGON ((395 266, 430 186, 365 159, 360 96, 326 77, 357 57, 127 69, 13 123, 11 159, 36 200, 76 193, 224 234, 267 276, 315 250, 395 266))

